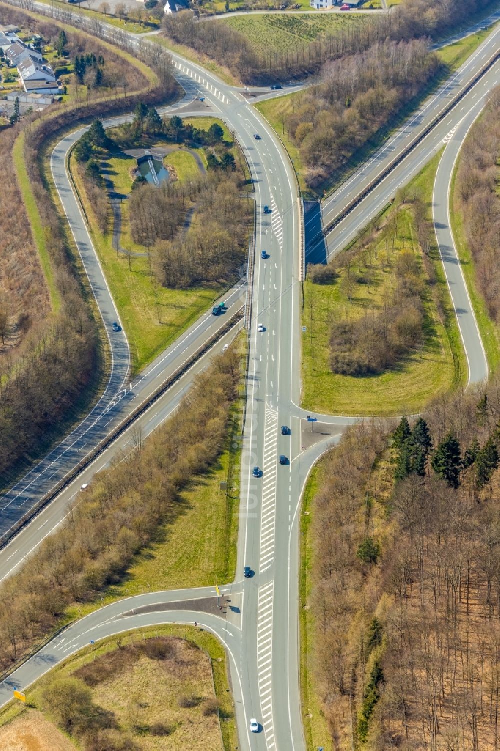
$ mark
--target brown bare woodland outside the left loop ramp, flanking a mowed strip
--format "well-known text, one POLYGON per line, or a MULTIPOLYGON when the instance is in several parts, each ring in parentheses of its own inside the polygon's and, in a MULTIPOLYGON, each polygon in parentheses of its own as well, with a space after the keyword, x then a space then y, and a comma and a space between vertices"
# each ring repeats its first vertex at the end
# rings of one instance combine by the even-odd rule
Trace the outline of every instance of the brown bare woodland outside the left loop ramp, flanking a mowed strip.
MULTIPOLYGON (((9 8, 2 18, 29 25, 35 31, 38 29, 45 38, 59 35, 58 24, 38 21, 23 11, 9 8)), ((104 48, 89 35, 80 32, 69 35, 68 49, 75 53, 89 50, 98 55, 105 53, 110 74, 121 71, 122 78, 127 77, 129 96, 89 101, 85 108, 80 104, 64 108, 53 104, 45 110, 43 119, 38 119, 38 113, 34 113, 23 121, 26 169, 60 297, 59 309, 53 310, 52 315, 49 315, 47 287, 42 280, 40 261, 35 254, 29 219, 23 210, 13 169, 11 152, 18 130, 0 134, 4 156, 0 170, 5 170, 0 219, 2 229, 9 230, 8 234, 2 232, 3 240, 0 240, 2 253, 8 254, 0 273, 5 292, 12 293, 8 303, 0 298, 3 330, 0 336, 5 339, 5 345, 15 345, 0 354, 0 487, 8 484, 22 463, 36 456, 41 448, 47 448, 50 441, 67 428, 65 421, 71 418, 75 404, 83 406, 103 375, 103 353, 99 352, 94 314, 85 299, 65 227, 47 190, 44 144, 57 131, 74 125, 80 116, 92 116, 97 111, 128 110, 136 101, 134 91, 149 87, 149 80, 138 68, 126 62, 118 51, 104 48)), ((165 101, 176 89, 170 73, 163 68, 161 71, 161 86, 146 92, 147 101, 165 101)))

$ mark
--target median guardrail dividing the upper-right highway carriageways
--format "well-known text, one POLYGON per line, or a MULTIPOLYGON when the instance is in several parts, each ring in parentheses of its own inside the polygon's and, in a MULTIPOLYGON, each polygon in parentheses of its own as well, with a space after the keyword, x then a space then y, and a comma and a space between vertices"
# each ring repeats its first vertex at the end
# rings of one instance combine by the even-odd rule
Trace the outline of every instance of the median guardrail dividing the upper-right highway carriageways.
POLYGON ((406 146, 399 155, 393 158, 389 162, 389 164, 384 167, 381 173, 379 173, 378 176, 372 179, 372 181, 369 182, 369 184, 366 185, 363 190, 360 191, 360 193, 358 193, 356 198, 350 201, 348 205, 344 209, 342 209, 342 211, 335 217, 335 219, 332 219, 331 222, 328 222, 323 230, 312 238, 310 245, 314 245, 315 241, 320 237, 326 237, 327 234, 329 234, 334 228, 336 228, 337 225, 340 224, 340 222, 342 222, 342 219, 345 219, 345 217, 348 216, 348 214, 351 213, 354 208, 359 206, 361 201, 363 201, 363 199, 366 198, 366 196, 369 195, 369 193, 371 193, 372 190, 377 187, 377 185, 380 185, 382 180, 384 180, 387 175, 390 174, 393 169, 397 167, 397 165, 400 164, 403 159, 405 159, 408 154, 413 151, 415 146, 418 146, 418 144, 421 143, 421 141, 423 141, 423 139, 429 135, 429 133, 435 128, 435 126, 438 125, 438 123, 441 122, 441 120, 443 120, 447 116, 447 114, 449 114, 451 110, 456 107, 457 104, 459 104, 459 101, 461 101, 462 98, 464 98, 464 96, 472 89, 472 87, 475 86, 475 84, 483 77, 483 75, 486 74, 487 71, 489 71, 489 68, 491 68, 492 65, 495 64, 498 58, 500 58, 500 49, 496 50, 495 53, 493 53, 492 56, 489 57, 483 67, 480 68, 480 71, 477 71, 477 74, 475 74, 475 76, 471 78, 468 84, 464 86, 464 88, 456 95, 456 97, 453 98, 452 101, 444 105, 441 112, 438 113, 434 118, 432 118, 431 122, 429 122, 429 125, 426 125, 426 128, 424 128, 421 133, 415 136, 414 139, 410 143, 408 143, 408 146, 406 146))

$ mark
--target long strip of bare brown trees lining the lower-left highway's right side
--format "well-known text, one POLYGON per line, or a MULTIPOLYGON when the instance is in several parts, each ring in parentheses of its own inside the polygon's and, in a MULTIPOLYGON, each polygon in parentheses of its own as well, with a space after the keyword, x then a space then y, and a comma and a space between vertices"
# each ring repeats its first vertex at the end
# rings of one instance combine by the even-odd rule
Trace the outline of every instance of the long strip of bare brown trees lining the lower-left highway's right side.
POLYGON ((224 447, 239 394, 240 357, 227 351, 197 377, 179 409, 117 456, 77 497, 61 529, 0 587, 0 665, 47 634, 71 602, 88 602, 125 575, 134 553, 182 513, 180 491, 224 447))

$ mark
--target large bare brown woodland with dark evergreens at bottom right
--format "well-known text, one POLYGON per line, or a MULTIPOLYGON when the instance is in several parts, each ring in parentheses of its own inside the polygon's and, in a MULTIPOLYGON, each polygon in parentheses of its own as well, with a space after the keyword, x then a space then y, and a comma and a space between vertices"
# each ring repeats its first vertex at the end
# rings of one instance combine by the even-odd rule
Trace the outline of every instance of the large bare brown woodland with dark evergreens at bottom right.
POLYGON ((309 686, 336 748, 498 748, 498 424, 496 379, 324 461, 309 686))

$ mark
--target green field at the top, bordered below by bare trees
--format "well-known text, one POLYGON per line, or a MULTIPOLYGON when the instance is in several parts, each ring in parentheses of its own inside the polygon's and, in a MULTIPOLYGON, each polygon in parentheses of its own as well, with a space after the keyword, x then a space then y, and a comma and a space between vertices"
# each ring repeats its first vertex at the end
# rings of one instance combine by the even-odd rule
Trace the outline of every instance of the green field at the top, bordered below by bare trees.
POLYGON ((256 14, 224 18, 229 24, 247 37, 256 50, 269 53, 294 52, 297 44, 303 46, 315 41, 321 35, 335 34, 366 20, 366 16, 355 14, 256 14))

